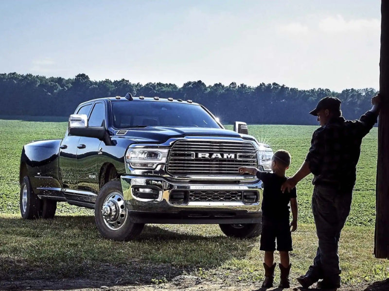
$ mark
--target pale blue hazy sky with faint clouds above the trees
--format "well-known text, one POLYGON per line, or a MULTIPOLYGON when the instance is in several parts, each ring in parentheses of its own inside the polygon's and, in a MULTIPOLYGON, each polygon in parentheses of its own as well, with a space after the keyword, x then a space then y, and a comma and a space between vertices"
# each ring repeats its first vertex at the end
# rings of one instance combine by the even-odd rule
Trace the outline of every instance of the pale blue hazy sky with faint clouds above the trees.
POLYGON ((379 0, 0 0, 0 73, 378 89, 379 0))

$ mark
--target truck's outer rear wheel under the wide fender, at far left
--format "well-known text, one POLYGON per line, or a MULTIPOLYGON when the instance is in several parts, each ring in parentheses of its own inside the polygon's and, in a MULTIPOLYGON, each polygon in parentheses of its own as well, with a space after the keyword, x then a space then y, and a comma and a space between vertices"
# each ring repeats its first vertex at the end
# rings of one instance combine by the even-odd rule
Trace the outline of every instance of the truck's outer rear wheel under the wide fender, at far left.
POLYGON ((24 176, 23 181, 20 184, 19 199, 20 214, 23 219, 36 219, 40 217, 42 200, 35 195, 33 188, 31 187, 30 179, 27 176, 24 176), (23 201, 23 196, 25 201, 23 201))

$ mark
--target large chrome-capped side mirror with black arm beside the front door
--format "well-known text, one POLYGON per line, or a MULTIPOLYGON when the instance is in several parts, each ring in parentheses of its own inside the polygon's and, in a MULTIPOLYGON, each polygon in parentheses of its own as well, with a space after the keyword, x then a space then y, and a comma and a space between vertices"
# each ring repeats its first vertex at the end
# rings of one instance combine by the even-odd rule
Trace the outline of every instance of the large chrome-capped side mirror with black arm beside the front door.
POLYGON ((104 126, 88 127, 88 116, 86 114, 71 114, 69 117, 69 133, 75 136, 95 137, 103 140, 106 128, 104 126))

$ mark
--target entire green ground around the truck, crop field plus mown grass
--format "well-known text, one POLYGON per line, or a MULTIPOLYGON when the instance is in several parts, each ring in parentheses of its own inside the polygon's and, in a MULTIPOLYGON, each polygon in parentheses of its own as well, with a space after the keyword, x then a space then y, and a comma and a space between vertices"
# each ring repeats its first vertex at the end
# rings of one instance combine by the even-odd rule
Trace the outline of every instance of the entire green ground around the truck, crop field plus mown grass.
MULTIPOLYGON (((116 284, 165 284, 177 275, 195 275, 223 286, 240 286, 241 290, 259 287, 263 279, 259 239, 230 239, 217 226, 150 225, 135 241, 112 242, 99 236, 91 210, 66 203, 58 204, 54 220, 22 221, 18 198, 22 146, 32 140, 62 138, 66 126, 66 122, 0 120, 0 278, 98 276, 116 284)), ((287 172, 291 176, 303 162, 316 128, 251 125, 249 133, 273 150, 291 153, 292 164, 287 172)), ((389 276, 389 261, 371 255, 376 159, 374 128, 362 144, 352 210, 340 241, 342 283, 349 288, 345 290, 389 276)), ((297 190, 299 229, 293 234, 292 277, 305 272, 317 247, 310 206, 311 180, 311 175, 302 180, 297 190)), ((1 284, 0 280, 0 289, 1 284)))

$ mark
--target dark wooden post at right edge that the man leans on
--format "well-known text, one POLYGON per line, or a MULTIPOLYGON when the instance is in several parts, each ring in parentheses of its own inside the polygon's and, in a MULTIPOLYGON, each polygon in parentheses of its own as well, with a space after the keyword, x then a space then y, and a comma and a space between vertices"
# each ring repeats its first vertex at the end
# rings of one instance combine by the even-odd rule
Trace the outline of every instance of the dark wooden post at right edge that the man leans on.
POLYGON ((381 1, 380 92, 374 255, 389 258, 389 0, 381 1))

